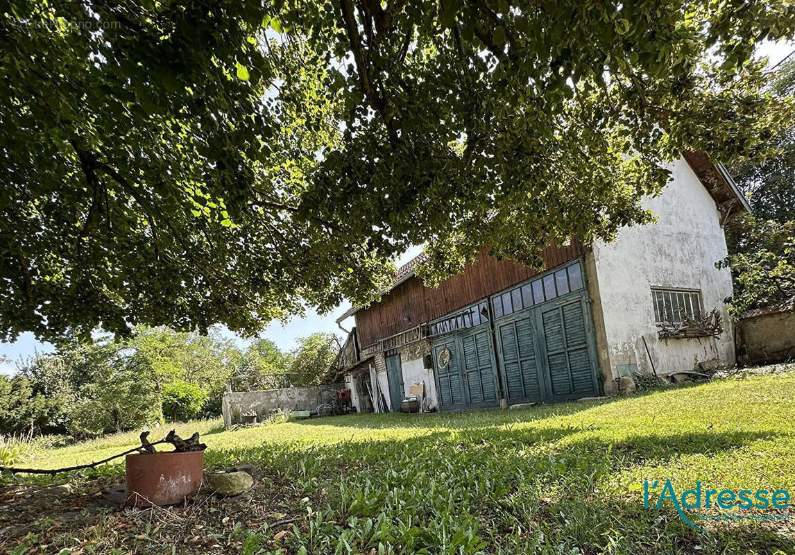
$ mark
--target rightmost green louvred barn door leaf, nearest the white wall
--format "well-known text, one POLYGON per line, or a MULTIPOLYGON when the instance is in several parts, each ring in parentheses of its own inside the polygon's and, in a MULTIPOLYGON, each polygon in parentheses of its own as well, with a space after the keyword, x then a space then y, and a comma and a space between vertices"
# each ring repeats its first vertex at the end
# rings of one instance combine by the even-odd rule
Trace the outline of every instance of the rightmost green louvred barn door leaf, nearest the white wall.
POLYGON ((583 297, 541 309, 545 362, 555 401, 598 394, 585 310, 583 297))

